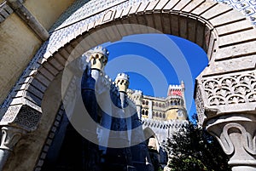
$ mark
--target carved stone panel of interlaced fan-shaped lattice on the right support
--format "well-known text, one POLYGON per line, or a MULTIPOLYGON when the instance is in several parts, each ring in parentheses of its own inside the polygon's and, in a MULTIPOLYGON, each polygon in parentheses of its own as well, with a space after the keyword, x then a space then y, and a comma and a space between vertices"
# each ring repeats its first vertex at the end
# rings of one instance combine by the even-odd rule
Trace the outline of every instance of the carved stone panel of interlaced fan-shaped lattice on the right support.
POLYGON ((230 105, 256 102, 255 71, 203 79, 208 105, 230 105))

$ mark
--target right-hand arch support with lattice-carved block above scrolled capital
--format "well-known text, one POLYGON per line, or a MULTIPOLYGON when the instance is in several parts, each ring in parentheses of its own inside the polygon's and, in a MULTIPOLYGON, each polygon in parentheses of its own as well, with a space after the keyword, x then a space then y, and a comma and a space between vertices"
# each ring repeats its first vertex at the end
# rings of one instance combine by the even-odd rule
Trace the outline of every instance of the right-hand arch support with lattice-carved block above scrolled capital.
POLYGON ((256 171, 255 91, 255 71, 197 80, 199 123, 218 139, 233 171, 256 171))

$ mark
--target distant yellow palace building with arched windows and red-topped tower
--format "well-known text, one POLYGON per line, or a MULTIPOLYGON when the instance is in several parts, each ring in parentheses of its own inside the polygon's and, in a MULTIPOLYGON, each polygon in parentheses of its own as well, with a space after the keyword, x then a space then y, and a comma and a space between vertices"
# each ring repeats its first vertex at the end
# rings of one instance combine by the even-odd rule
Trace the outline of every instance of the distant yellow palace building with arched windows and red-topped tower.
POLYGON ((185 86, 170 85, 167 91, 167 97, 152 97, 143 95, 140 90, 128 90, 128 96, 137 106, 141 106, 142 117, 154 118, 156 120, 186 120, 188 114, 185 105, 185 86))

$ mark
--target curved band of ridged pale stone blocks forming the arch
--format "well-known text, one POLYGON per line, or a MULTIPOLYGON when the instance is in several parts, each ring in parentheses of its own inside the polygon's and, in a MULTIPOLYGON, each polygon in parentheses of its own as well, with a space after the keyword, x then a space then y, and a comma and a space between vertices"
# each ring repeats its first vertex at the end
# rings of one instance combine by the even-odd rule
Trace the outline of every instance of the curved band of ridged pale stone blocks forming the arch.
MULTIPOLYGON (((228 5, 214 3, 208 0, 202 2, 179 1, 176 4, 173 4, 171 1, 168 3, 164 2, 166 1, 145 4, 140 3, 138 6, 135 5, 131 7, 129 13, 122 15, 112 12, 111 14, 113 16, 109 20, 106 20, 106 16, 103 15, 102 19, 95 21, 92 27, 87 27, 86 30, 75 32, 73 35, 70 35, 72 37, 67 36, 66 42, 63 41, 59 43, 59 47, 53 46, 48 48, 47 43, 44 43, 37 54, 43 55, 44 58, 38 59, 39 65, 38 63, 34 65, 35 70, 27 70, 22 76, 23 79, 20 79, 20 84, 23 84, 15 87, 15 91, 18 91, 18 94, 15 95, 10 105, 18 104, 21 100, 23 103, 32 103, 32 105, 40 107, 45 89, 47 89, 49 83, 54 79, 57 73, 63 70, 70 55, 72 55, 73 58, 77 58, 80 54, 84 53, 84 51, 97 44, 113 41, 126 35, 148 32, 132 29, 122 32, 120 30, 124 30, 124 27, 119 24, 123 24, 125 21, 128 21, 129 24, 149 26, 166 34, 187 38, 200 45, 207 51, 208 58, 211 60, 210 66, 201 73, 204 77, 207 75, 218 75, 224 72, 224 70, 225 72, 237 70, 237 68, 235 66, 232 67, 232 65, 230 68, 223 68, 221 66, 227 62, 229 63, 230 57, 238 58, 240 56, 244 57, 246 54, 255 53, 253 49, 250 48, 253 47, 252 45, 255 43, 254 40, 256 36, 254 37, 255 34, 253 34, 255 33, 255 29, 242 14, 238 13, 235 9, 231 9, 228 5), (134 20, 136 18, 137 20, 134 20), (156 24, 154 23, 156 22, 154 18, 168 21, 172 25, 170 26, 164 23, 156 24), (177 20, 180 20, 180 23, 178 23, 177 20), (115 26, 111 29, 115 29, 118 35, 109 34, 108 37, 102 37, 100 40, 97 37, 91 40, 94 37, 90 37, 90 40, 87 42, 87 47, 82 48, 80 52, 77 51, 77 49, 75 52, 73 51, 74 48, 78 48, 77 46, 79 46, 79 43, 84 38, 90 36, 91 31, 97 31, 102 29, 102 27, 108 26, 115 26), (197 29, 196 31, 195 28, 197 29), (202 34, 199 34, 198 31, 201 31, 202 34), (247 49, 246 52, 245 49, 247 49), (217 66, 219 66, 218 70, 216 69, 216 63, 218 63, 217 66), (25 78, 26 80, 24 80, 25 78)), ((121 9, 120 11, 125 11, 125 9, 121 9)), ((110 32, 108 31, 107 33, 110 32)), ((250 59, 253 60, 253 57, 250 57, 250 59)))

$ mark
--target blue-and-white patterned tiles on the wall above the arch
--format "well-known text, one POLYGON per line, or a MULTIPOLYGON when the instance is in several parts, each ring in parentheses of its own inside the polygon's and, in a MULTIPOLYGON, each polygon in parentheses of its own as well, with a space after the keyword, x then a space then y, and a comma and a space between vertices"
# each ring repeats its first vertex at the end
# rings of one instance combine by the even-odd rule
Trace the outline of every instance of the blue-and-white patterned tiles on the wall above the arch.
MULTIPOLYGON (((102 18, 106 9, 125 9, 135 3, 151 2, 153 0, 78 0, 61 15, 55 25, 50 29, 49 47, 55 46, 73 31, 102 18)), ((246 15, 253 25, 256 25, 256 0, 215 0, 225 3, 246 15)))

